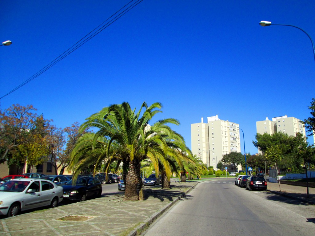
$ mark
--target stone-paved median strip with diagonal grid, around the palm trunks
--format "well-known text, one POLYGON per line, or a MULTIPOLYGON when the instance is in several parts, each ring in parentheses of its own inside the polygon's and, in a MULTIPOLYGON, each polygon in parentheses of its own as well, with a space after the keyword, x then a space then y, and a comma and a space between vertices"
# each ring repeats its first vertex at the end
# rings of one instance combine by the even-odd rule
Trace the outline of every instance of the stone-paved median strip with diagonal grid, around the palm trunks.
POLYGON ((0 236, 136 235, 190 192, 196 182, 145 188, 144 200, 123 201, 124 192, 0 220, 0 236))

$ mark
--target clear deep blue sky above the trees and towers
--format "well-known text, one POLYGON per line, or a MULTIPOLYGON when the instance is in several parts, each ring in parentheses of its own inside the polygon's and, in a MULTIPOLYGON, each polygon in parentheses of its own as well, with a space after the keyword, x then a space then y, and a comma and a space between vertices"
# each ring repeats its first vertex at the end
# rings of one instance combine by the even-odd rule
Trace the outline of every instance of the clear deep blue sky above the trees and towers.
MULTIPOLYGON (((9 1, 0 9, 0 97, 30 78, 129 1, 9 1)), ((312 1, 151 1, 138 6, 24 87, 0 108, 32 104, 58 127, 82 123, 109 104, 161 102, 181 125, 219 115, 245 134, 256 121, 304 120, 314 98, 312 1)), ((309 138, 309 141, 311 138, 309 138)), ((311 142, 311 141, 310 141, 311 142)), ((312 142, 311 142, 312 143, 312 142)), ((243 138, 241 137, 243 152, 243 138)))

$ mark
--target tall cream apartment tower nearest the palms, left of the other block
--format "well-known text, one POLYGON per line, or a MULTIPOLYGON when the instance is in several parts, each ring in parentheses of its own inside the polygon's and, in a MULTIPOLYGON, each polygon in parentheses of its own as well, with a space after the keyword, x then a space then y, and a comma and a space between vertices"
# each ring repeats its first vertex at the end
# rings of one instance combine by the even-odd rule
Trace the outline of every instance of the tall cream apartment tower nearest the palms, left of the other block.
POLYGON ((190 125, 192 138, 192 154, 200 156, 207 166, 213 166, 224 154, 241 152, 239 124, 223 121, 218 115, 208 117, 207 123, 190 125))

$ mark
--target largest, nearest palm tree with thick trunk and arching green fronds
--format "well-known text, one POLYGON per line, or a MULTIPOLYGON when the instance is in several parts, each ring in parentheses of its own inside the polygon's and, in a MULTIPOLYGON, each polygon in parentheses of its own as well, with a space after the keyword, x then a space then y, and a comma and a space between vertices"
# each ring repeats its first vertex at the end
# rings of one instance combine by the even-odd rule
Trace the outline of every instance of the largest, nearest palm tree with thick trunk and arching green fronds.
POLYGON ((135 109, 132 110, 129 103, 123 102, 122 104, 112 104, 91 115, 81 125, 80 131, 90 127, 98 130, 93 134, 92 142, 82 143, 79 141, 77 143, 78 148, 75 149, 72 156, 72 167, 76 168, 77 164, 86 165, 87 161, 83 161, 85 158, 80 160, 80 157, 84 156, 88 160, 96 161, 95 170, 104 158, 107 160, 106 169, 114 161, 117 161, 117 165, 122 163, 125 182, 124 200, 141 199, 141 161, 149 159, 158 174, 158 163, 162 163, 164 166, 168 165, 164 158, 168 149, 165 141, 166 136, 178 142, 181 142, 182 139, 168 126, 168 124, 179 125, 179 121, 175 119, 163 119, 155 122, 152 126, 149 125, 153 116, 162 112, 161 108, 162 104, 160 103, 148 106, 144 102, 140 110, 135 113, 135 109), (145 110, 141 114, 143 109, 145 110), (87 143, 89 143, 88 146, 86 146, 87 143), (96 150, 101 155, 99 158, 92 158, 91 154, 96 150))

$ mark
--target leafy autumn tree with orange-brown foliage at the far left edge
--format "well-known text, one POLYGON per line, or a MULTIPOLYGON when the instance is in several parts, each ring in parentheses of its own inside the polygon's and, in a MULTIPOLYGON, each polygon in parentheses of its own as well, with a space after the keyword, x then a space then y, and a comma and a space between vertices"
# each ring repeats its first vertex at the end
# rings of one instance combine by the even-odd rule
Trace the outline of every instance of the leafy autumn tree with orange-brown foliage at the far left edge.
POLYGON ((7 160, 9 166, 20 166, 27 158, 35 164, 41 161, 38 155, 45 154, 43 137, 50 121, 33 113, 35 110, 32 105, 20 104, 0 110, 0 163, 7 160))

